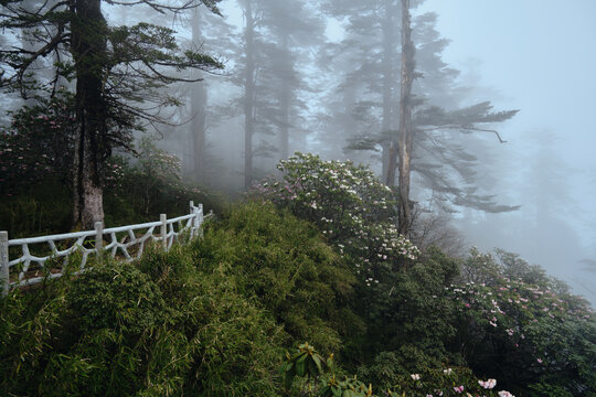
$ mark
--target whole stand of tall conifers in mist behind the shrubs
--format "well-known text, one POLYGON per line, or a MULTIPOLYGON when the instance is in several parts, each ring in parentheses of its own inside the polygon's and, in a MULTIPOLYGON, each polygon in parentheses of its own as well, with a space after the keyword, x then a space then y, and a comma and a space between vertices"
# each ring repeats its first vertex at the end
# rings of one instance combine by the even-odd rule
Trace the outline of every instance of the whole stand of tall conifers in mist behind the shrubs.
MULTIPOLYGON (((66 159, 74 228, 104 218, 107 164, 138 153, 143 133, 187 179, 231 192, 295 150, 368 164, 397 185, 402 234, 430 234, 462 211, 515 211, 493 186, 510 144, 499 128, 518 110, 476 100, 443 61, 449 41, 423 2, 7 0, 0 100, 12 111, 41 104, 47 111, 32 115, 44 120, 63 98, 68 119, 35 128, 60 132, 47 159, 66 159)), ((21 139, 24 124, 2 116, 21 139)), ((31 168, 21 171, 11 178, 31 168)), ((438 234, 460 249, 450 233, 438 234)))

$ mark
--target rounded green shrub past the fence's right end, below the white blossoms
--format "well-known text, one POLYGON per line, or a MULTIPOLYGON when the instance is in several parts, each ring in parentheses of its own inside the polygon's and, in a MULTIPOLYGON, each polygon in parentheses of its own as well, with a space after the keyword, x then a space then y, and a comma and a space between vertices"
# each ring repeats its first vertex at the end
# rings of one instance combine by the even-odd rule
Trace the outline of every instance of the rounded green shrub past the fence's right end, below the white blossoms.
POLYGON ((354 277, 315 227, 287 212, 260 203, 237 206, 194 247, 200 271, 223 266, 240 292, 257 299, 292 341, 337 351, 341 335, 363 330, 348 304, 354 277))

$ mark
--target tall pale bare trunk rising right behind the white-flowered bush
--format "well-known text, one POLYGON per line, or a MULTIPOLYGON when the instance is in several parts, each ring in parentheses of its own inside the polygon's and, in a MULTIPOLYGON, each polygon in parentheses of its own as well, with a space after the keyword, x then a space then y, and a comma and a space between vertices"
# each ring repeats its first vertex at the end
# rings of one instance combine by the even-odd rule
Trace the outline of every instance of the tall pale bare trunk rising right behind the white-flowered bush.
POLYGON ((414 79, 414 54, 409 20, 409 0, 402 0, 402 79, 400 92, 400 143, 391 141, 387 184, 395 180, 395 161, 400 153, 400 224, 397 230, 407 234, 411 226, 409 208, 409 163, 412 160, 412 83, 414 79))

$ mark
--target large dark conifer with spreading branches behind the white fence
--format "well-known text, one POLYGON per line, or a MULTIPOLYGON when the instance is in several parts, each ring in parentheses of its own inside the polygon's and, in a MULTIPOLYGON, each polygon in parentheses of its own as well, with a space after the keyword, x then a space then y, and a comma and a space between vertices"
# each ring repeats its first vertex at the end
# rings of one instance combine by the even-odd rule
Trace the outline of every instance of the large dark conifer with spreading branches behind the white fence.
MULTIPOLYGON (((199 6, 219 13, 219 1, 105 3, 175 15, 199 6)), ((102 0, 0 0, 0 29, 8 43, 0 49, 0 87, 23 98, 53 96, 60 86, 75 94, 74 227, 103 221, 102 180, 111 150, 130 149, 132 130, 166 121, 160 110, 178 105, 161 88, 201 79, 184 77, 183 71, 222 67, 196 49, 182 50, 171 29, 145 22, 110 25, 103 6, 102 0), (44 60, 51 60, 45 67, 53 73, 40 79, 34 69, 44 60)))

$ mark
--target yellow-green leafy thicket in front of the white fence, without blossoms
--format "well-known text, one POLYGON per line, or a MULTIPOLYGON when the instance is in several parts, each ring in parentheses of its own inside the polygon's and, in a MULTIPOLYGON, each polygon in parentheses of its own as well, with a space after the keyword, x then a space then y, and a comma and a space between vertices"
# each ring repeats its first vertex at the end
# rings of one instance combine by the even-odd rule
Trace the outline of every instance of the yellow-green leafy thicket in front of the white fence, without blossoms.
POLYGON ((353 283, 308 223, 241 207, 190 246, 11 292, 0 394, 276 396, 286 348, 358 325, 353 283))

